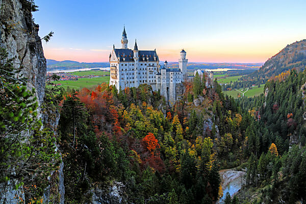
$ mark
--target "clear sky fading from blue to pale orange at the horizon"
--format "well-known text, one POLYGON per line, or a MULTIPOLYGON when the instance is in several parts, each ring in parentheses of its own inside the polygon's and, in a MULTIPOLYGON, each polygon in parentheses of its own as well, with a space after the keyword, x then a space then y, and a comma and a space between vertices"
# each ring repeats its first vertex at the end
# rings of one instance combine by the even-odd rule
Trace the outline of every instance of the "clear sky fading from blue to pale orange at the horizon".
POLYGON ((107 62, 123 25, 134 48, 176 62, 265 62, 306 38, 305 0, 36 0, 33 12, 47 59, 107 62))

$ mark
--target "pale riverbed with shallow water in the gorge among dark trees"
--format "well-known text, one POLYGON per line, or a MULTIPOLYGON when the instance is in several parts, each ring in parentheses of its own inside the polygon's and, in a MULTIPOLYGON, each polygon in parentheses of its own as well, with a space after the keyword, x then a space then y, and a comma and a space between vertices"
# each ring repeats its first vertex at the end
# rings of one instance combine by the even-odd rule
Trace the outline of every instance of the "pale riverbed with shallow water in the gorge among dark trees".
POLYGON ((222 181, 223 196, 219 199, 217 203, 222 204, 227 192, 230 193, 231 196, 233 196, 241 189, 242 178, 245 172, 227 169, 221 170, 219 173, 222 181))

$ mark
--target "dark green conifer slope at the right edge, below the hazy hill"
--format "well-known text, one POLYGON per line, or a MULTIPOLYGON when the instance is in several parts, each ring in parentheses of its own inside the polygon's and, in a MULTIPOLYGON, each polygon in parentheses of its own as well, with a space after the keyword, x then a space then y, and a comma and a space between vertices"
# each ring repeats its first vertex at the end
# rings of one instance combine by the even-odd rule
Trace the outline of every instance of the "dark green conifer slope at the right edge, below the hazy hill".
POLYGON ((248 160, 244 198, 256 194, 256 203, 305 199, 305 82, 305 71, 286 71, 266 84, 264 94, 239 100, 252 117, 247 135, 255 150, 248 160))

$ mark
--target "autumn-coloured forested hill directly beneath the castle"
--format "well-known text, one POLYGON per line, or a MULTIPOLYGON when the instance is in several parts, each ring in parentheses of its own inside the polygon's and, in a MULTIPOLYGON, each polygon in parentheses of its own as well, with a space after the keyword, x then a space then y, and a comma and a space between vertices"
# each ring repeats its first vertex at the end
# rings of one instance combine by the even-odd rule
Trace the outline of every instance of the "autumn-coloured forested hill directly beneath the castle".
POLYGON ((198 76, 186 83, 173 108, 147 85, 118 93, 102 84, 66 95, 59 121, 65 201, 89 201, 90 189, 96 195, 114 181, 129 203, 217 201, 218 169, 244 159, 230 152, 241 148, 246 124, 217 83, 204 84, 198 76))

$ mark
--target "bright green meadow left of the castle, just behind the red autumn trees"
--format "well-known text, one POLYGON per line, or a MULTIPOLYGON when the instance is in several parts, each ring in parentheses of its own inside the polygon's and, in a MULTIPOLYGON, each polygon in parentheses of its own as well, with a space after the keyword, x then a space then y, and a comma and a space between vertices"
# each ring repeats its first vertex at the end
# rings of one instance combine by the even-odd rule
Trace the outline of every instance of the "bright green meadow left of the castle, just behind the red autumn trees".
MULTIPOLYGON (((86 74, 87 75, 87 74, 86 74)), ((110 77, 97 77, 97 78, 80 78, 77 81, 56 81, 56 84, 61 84, 65 89, 80 89, 80 88, 91 88, 97 86, 103 82, 109 83, 110 77)))

